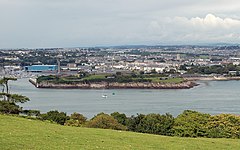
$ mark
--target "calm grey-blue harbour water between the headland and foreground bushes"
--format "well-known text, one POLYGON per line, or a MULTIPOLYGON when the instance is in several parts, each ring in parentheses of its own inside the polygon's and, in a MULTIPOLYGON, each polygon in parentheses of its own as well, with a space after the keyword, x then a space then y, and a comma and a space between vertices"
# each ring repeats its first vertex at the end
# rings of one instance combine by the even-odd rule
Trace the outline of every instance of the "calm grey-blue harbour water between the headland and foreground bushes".
POLYGON ((219 114, 240 114, 240 81, 204 81, 192 89, 38 89, 28 79, 10 82, 12 93, 29 97, 20 104, 24 109, 41 112, 59 110, 79 112, 88 118, 115 111, 126 115, 137 113, 171 113, 176 116, 186 109, 219 114), (102 97, 106 95, 106 97, 102 97))

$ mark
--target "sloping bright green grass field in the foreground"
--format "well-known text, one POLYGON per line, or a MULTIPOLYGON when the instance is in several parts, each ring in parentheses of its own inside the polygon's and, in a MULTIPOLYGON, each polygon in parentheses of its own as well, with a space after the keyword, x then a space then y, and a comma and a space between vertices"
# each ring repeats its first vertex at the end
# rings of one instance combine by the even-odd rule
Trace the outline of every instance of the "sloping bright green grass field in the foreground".
POLYGON ((239 150, 238 139, 165 137, 0 115, 0 149, 239 150))

